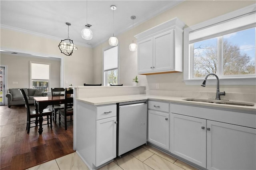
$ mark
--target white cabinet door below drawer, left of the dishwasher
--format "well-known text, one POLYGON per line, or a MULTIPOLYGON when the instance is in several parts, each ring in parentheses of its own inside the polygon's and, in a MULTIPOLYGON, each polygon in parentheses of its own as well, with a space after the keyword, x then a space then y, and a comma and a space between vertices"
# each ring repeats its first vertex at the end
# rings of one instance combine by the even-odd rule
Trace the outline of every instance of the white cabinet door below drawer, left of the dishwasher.
POLYGON ((116 117, 96 121, 96 162, 100 166, 116 158, 116 117))

